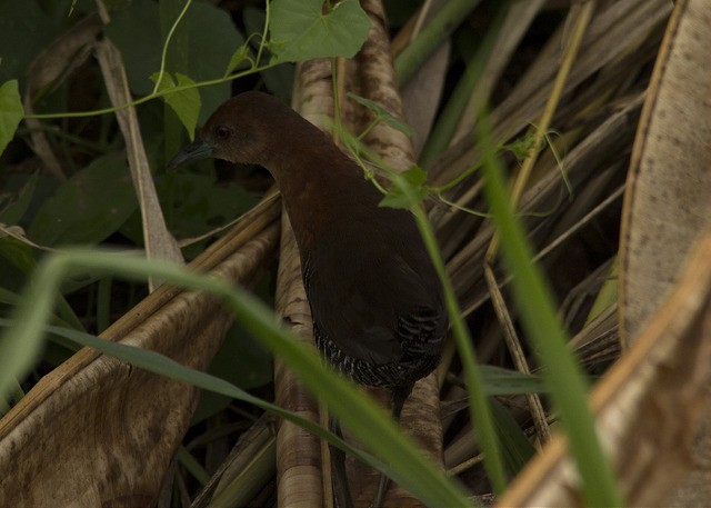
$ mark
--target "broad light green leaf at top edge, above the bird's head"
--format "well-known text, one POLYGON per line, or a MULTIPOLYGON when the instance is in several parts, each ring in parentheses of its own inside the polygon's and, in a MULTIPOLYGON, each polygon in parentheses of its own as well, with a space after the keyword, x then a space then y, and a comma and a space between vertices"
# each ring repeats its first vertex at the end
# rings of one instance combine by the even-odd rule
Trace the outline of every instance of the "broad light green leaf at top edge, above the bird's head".
POLYGON ((328 13, 322 0, 274 0, 271 4, 271 51, 279 62, 353 57, 361 48, 370 18, 357 0, 343 0, 328 13))

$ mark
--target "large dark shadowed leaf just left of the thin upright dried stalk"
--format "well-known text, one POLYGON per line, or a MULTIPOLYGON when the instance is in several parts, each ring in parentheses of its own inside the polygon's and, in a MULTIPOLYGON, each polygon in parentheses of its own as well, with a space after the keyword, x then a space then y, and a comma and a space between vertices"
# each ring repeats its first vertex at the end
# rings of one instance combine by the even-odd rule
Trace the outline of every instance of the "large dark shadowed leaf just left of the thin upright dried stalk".
POLYGON ((63 182, 42 203, 28 236, 44 246, 98 243, 137 207, 126 160, 104 156, 63 182))

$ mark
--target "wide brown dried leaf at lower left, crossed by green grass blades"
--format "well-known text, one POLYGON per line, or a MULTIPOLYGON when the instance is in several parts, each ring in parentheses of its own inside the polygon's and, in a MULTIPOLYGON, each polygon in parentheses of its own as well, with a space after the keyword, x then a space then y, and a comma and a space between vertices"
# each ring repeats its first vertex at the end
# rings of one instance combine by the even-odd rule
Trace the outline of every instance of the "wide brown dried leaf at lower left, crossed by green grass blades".
MULTIPOLYGON (((278 215, 273 200, 249 213, 191 268, 253 280, 276 249, 278 215)), ((163 286, 102 337, 206 369, 231 321, 213 298, 163 286)), ((80 350, 0 420, 0 506, 154 506, 197 396, 194 387, 80 350)))

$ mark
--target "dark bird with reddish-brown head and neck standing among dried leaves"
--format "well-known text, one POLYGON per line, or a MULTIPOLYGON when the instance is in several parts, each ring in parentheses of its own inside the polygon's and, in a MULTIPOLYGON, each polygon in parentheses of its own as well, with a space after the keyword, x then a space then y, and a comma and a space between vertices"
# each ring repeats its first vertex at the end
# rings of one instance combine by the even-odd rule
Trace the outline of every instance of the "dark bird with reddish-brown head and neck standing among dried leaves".
MULTIPOLYGON (((389 389, 399 422, 414 382, 437 367, 449 325, 412 212, 380 207, 382 192, 353 159, 264 92, 218 107, 167 169, 204 158, 259 165, 272 175, 297 240, 318 349, 354 382, 389 389)), ((330 428, 342 436, 337 419, 330 428)), ((340 504, 350 507, 344 455, 331 451, 340 504)), ((381 476, 371 506, 380 506, 387 488, 381 476)))

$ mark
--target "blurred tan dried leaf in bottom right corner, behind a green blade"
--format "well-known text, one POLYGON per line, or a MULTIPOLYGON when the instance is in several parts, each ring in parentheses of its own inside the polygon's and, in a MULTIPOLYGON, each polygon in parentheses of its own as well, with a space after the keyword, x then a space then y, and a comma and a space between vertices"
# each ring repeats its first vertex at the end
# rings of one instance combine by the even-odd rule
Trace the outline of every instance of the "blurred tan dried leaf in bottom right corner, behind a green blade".
MULTIPOLYGON (((591 396, 598 432, 628 506, 659 505, 692 466, 711 382, 709 259, 711 233, 694 249, 673 293, 591 396)), ((553 438, 498 506, 581 506, 565 446, 561 436, 553 438)))

